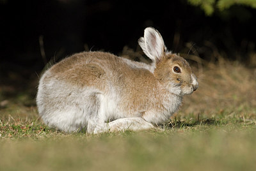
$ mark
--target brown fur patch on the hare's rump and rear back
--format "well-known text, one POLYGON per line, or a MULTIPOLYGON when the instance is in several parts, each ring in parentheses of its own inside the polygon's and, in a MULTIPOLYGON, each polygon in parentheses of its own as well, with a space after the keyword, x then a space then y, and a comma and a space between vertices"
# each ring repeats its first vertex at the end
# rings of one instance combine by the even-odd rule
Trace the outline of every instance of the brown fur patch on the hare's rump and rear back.
POLYGON ((81 52, 54 64, 45 73, 44 80, 54 79, 72 86, 104 89, 107 82, 120 80, 124 73, 126 77, 135 74, 132 68, 134 66, 129 66, 122 57, 107 52, 81 52))

